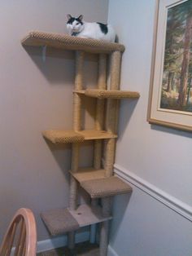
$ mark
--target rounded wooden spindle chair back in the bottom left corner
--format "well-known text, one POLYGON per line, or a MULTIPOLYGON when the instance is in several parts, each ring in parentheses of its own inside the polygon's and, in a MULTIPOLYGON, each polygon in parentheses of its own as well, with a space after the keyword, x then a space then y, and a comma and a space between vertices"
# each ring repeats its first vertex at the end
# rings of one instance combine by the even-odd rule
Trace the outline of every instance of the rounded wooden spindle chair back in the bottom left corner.
POLYGON ((7 228, 0 247, 0 256, 36 256, 37 231, 33 212, 17 210, 7 228))

